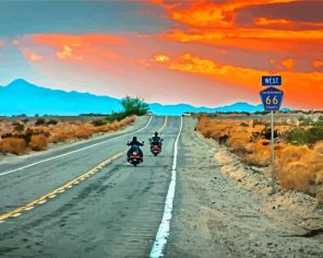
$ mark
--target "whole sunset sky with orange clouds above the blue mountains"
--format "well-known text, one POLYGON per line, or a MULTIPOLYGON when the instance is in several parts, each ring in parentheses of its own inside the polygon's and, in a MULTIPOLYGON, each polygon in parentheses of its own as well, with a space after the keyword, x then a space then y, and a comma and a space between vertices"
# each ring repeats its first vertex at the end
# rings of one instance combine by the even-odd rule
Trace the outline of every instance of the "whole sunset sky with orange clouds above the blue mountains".
POLYGON ((323 109, 323 1, 0 0, 0 85, 15 79, 149 103, 323 109))

